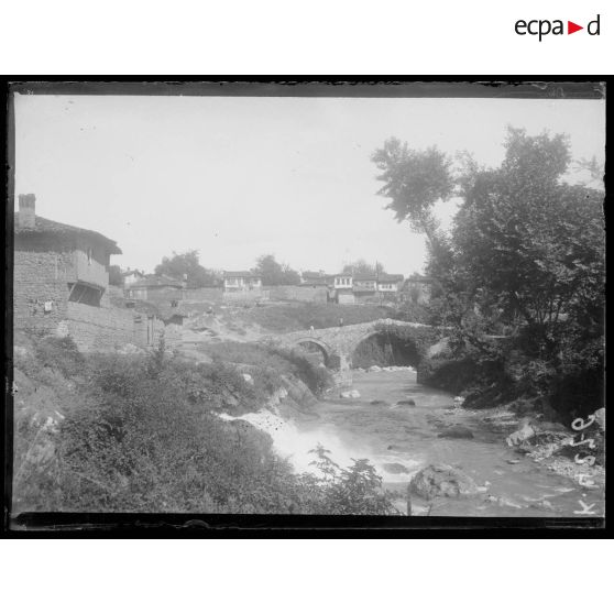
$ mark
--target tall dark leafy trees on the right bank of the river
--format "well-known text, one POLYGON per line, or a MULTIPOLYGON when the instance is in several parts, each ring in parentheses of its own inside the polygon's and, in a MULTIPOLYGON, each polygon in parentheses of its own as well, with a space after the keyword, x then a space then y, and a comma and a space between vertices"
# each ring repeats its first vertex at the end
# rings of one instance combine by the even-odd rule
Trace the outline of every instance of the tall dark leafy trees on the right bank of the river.
POLYGON ((566 183, 567 139, 509 128, 500 167, 464 155, 456 174, 437 149, 395 139, 373 161, 388 208, 427 239, 430 318, 453 328, 449 358, 492 374, 468 385, 544 398, 563 413, 602 406, 604 194, 566 183), (446 233, 434 206, 451 196, 460 206, 446 233), (589 386, 570 398, 564 391, 582 381, 589 386))

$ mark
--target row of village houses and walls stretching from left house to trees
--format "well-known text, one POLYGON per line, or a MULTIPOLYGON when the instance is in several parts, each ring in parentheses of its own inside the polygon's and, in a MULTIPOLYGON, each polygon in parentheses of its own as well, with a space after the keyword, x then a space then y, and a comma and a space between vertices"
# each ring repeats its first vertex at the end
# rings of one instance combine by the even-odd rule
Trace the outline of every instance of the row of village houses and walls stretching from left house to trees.
MULTIPOLYGON (((69 336, 83 351, 154 348, 162 338, 168 350, 177 350, 202 339, 195 329, 217 338, 224 332, 237 337, 231 322, 230 330, 222 330, 219 318, 215 326, 216 314, 233 308, 297 303, 392 308, 404 301, 426 304, 430 296, 427 277, 381 272, 304 271, 297 284, 265 286, 253 271, 224 271, 217 284, 194 288, 187 275, 179 279, 129 268, 121 285, 111 285, 111 256, 121 253, 116 241, 97 231, 37 216, 35 195, 20 195, 14 328, 69 336), (202 318, 210 326, 200 326, 202 318)), ((240 332, 239 339, 246 335, 240 332)))

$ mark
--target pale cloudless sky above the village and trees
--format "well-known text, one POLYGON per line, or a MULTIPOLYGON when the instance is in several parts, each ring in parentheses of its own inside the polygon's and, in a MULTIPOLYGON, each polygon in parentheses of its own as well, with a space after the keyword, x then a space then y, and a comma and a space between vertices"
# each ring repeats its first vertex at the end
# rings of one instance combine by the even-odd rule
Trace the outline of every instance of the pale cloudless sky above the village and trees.
MULTIPOLYGON (((408 275, 424 240, 384 209, 371 154, 397 136, 495 166, 507 124, 605 157, 595 100, 15 95, 15 210, 33 193, 37 215, 101 232, 123 251, 112 264, 145 272, 198 250, 217 270, 272 253, 298 271, 364 259, 408 275)), ((453 211, 438 206, 443 227, 453 211)))

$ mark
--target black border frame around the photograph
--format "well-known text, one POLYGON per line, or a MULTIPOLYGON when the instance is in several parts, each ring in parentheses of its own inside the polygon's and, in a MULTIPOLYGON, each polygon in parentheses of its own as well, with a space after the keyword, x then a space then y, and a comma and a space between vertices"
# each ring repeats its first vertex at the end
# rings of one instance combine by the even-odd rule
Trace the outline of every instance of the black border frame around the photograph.
MULTIPOLYGON (((604 99, 605 76, 233 76, 233 77, 11 77, 2 84, 7 110, 3 274, 4 441, 2 533, 8 537, 583 537, 607 535, 605 518, 383 517, 221 514, 26 513, 11 518, 12 476, 12 252, 14 112, 12 94, 124 96, 274 96, 373 98, 604 99), (379 529, 379 530, 374 530, 379 529), (441 529, 441 530, 432 530, 441 529), (591 530, 586 530, 591 529, 591 530)), ((607 106, 606 106, 607 116, 607 106)), ((606 117, 606 122, 607 122, 606 117)), ((608 124, 608 122, 607 122, 608 124)), ((1 132, 0 132, 1 133, 1 132)), ((606 160, 606 188, 607 169, 606 160)), ((607 202, 607 195, 606 195, 607 202)), ((607 208, 605 207, 605 211, 607 208)), ((607 507, 607 497, 606 497, 607 507)))

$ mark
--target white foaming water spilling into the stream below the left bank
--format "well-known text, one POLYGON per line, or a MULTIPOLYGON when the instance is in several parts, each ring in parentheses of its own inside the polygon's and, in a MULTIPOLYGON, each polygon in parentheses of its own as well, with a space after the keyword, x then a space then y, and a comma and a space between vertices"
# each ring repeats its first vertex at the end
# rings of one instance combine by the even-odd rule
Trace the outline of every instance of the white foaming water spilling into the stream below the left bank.
POLYGON ((218 417, 226 421, 245 420, 259 430, 267 432, 273 439, 274 451, 279 457, 287 459, 298 473, 319 474, 319 470, 310 464, 317 457, 309 453, 309 450, 314 450, 318 443, 330 450, 327 456, 342 469, 352 465, 353 459, 369 459, 385 482, 407 482, 410 474, 420 464, 419 461, 408 460, 396 454, 375 456, 366 449, 350 448, 335 434, 324 429, 300 431, 292 420, 285 420, 270 409, 261 409, 242 416, 218 414, 218 417), (410 473, 390 473, 383 468, 386 463, 401 463, 410 473))

